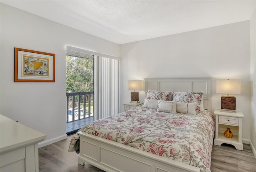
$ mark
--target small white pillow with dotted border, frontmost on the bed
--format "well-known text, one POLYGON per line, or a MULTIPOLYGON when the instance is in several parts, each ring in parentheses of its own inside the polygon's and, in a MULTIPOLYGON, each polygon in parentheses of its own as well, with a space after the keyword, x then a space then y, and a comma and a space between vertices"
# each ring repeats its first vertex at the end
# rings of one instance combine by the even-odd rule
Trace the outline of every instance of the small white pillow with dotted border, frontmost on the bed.
POLYGON ((157 112, 168 112, 176 114, 177 101, 158 100, 157 112))

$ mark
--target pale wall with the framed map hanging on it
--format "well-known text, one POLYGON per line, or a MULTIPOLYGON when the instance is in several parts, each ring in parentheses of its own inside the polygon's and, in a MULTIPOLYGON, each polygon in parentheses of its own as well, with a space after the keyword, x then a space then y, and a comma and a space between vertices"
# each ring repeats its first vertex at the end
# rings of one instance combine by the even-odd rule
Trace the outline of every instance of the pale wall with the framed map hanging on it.
POLYGON ((5 4, 0 16, 0 113, 46 134, 41 146, 62 140, 66 46, 120 56, 120 45, 5 4), (56 54, 56 82, 14 82, 14 47, 56 54))

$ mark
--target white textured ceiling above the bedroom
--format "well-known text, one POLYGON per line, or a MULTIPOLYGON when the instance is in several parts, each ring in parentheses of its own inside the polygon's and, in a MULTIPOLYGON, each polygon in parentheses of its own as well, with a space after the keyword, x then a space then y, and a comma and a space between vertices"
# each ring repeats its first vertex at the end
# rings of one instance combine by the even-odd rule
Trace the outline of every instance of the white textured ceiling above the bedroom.
POLYGON ((1 0, 124 44, 250 20, 256 0, 1 0))

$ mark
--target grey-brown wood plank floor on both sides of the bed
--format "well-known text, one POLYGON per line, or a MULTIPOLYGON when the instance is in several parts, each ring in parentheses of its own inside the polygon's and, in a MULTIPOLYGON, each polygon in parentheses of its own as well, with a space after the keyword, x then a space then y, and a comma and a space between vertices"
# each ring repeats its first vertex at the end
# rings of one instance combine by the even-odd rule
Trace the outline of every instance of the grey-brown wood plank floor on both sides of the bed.
MULTIPOLYGON (((61 140, 39 148, 39 172, 104 172, 88 163, 77 163, 78 154, 68 152, 71 139, 61 140)), ((212 147, 212 172, 256 172, 256 159, 250 145, 244 144, 244 150, 232 146, 212 147)))

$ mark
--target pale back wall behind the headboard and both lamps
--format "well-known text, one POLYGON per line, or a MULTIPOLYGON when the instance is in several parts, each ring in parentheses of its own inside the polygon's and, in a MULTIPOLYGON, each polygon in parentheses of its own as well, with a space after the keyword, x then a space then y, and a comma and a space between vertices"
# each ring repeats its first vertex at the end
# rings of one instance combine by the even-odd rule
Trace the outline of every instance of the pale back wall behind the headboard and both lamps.
MULTIPOLYGON (((250 21, 121 45, 122 102, 130 100, 127 80, 154 77, 212 77, 212 112, 220 109, 216 79, 240 79, 236 110, 244 113, 243 136, 250 139, 250 21)), ((140 92, 144 102, 144 92, 140 92)), ((123 108, 123 107, 122 107, 123 108)))

